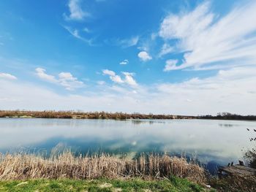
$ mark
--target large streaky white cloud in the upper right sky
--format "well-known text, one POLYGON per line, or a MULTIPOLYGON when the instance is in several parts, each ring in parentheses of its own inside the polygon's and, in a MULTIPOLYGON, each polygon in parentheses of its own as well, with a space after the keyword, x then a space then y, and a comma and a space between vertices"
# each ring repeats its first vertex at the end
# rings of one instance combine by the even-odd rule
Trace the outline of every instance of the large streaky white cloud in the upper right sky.
POLYGON ((256 64, 256 1, 236 7, 218 18, 206 1, 192 12, 170 14, 161 23, 159 36, 178 39, 183 64, 173 69, 222 68, 256 64), (221 64, 217 64, 221 63, 221 64))

